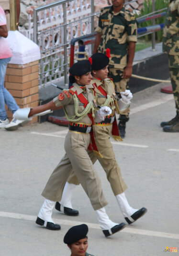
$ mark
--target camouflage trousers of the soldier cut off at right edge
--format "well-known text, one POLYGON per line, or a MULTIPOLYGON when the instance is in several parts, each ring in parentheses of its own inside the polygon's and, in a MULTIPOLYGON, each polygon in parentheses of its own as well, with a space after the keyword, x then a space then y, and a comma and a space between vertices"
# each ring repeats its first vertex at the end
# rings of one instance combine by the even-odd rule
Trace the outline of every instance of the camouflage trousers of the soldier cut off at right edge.
POLYGON ((175 106, 179 114, 179 56, 168 55, 168 61, 175 106))

